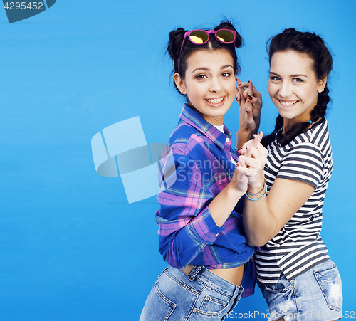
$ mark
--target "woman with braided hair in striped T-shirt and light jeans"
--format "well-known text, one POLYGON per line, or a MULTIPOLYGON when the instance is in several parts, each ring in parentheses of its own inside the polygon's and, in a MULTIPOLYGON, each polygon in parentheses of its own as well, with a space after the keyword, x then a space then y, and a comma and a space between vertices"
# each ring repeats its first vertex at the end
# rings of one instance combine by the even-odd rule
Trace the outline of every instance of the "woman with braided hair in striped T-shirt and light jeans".
POLYGON ((248 177, 244 229, 248 244, 261 247, 254 256, 257 282, 273 321, 337 320, 340 274, 320 237, 333 169, 325 120, 333 59, 322 38, 293 28, 267 48, 276 127, 261 143, 246 143, 239 157, 248 177))

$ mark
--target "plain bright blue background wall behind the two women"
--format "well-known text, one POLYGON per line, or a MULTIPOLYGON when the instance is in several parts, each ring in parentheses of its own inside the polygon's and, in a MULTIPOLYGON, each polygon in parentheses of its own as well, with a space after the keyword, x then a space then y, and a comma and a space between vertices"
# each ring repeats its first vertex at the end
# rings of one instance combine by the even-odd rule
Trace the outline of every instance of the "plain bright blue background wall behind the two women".
MULTIPOLYGON (((165 142, 182 108, 164 55, 168 33, 224 15, 244 37, 240 78, 263 94, 266 133, 276 117, 268 38, 295 27, 320 33, 333 50, 334 172, 322 236, 342 275, 344 310, 355 311, 355 14, 352 0, 58 0, 9 24, 0 9, 0 320, 138 320, 166 266, 158 204, 128 204, 120 177, 96 174, 90 140, 140 116, 147 142, 165 142)), ((234 103, 225 117, 233 132, 238 119, 234 103)), ((236 312, 266 308, 256 289, 236 312)))

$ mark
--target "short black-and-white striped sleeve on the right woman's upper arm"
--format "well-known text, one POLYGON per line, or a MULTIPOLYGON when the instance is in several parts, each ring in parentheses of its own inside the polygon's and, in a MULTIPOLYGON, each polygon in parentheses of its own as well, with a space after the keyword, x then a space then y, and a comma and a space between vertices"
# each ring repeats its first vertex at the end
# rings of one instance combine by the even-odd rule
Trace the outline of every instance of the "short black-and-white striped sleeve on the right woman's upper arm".
POLYGON ((316 189, 323 180, 323 174, 323 155, 320 147, 311 142, 300 142, 283 158, 276 178, 302 181, 316 189))

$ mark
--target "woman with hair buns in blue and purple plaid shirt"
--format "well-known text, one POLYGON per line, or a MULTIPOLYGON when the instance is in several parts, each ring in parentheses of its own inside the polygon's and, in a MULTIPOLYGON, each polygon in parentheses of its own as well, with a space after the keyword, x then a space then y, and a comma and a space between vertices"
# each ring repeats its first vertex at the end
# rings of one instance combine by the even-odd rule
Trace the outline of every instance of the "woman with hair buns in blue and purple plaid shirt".
MULTIPOLYGON (((239 102, 237 145, 256 133, 261 94, 236 78, 242 38, 229 22, 214 30, 169 33, 174 85, 187 98, 159 161, 159 251, 169 264, 153 286, 140 320, 222 320, 253 294, 253 246, 241 209, 247 189, 224 115, 239 102), (237 80, 237 86, 236 86, 237 80), (240 212, 240 213, 239 213, 240 212)), ((261 140, 256 135, 254 140, 261 140)))

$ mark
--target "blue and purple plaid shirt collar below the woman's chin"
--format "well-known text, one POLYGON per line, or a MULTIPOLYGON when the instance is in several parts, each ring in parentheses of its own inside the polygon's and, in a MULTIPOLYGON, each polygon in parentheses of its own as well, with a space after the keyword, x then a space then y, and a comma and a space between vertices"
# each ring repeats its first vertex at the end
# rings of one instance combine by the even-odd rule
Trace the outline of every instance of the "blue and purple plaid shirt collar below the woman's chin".
POLYGON ((204 120, 198 112, 193 110, 187 104, 184 104, 180 114, 181 119, 192 127, 196 128, 201 134, 208 137, 212 142, 217 144, 221 149, 224 149, 226 136, 231 138, 231 132, 224 125, 224 133, 220 132, 216 127, 204 120))

